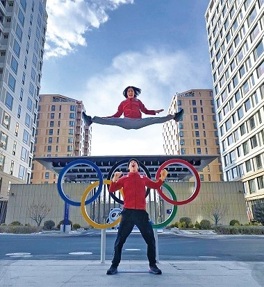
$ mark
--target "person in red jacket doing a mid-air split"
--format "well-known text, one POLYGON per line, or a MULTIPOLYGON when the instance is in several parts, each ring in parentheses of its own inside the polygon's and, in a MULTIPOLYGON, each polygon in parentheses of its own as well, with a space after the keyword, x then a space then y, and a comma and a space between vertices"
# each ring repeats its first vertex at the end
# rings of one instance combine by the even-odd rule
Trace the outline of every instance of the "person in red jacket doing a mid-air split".
POLYGON ((174 119, 175 121, 179 121, 183 116, 183 109, 181 109, 176 114, 168 114, 167 116, 161 117, 147 117, 142 119, 142 113, 144 114, 159 114, 163 112, 162 110, 147 110, 145 105, 140 101, 137 96, 141 93, 141 89, 138 87, 129 86, 124 89, 123 95, 126 100, 120 103, 117 112, 113 114, 113 116, 105 116, 99 117, 88 116, 83 112, 83 118, 85 119, 85 123, 87 125, 91 125, 92 123, 99 123, 101 125, 117 125, 121 128, 125 128, 126 130, 131 129, 139 129, 143 128, 147 125, 152 125, 154 123, 165 123, 165 121, 170 121, 174 119), (120 119, 120 116, 124 114, 124 118, 120 119))

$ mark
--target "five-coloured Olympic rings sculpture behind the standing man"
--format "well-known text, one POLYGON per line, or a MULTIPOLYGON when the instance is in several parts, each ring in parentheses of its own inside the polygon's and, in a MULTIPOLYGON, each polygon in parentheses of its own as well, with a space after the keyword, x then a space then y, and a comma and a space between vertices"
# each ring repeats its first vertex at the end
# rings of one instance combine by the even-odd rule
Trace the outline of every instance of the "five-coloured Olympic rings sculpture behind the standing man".
MULTIPOLYGON (((117 162, 109 171, 108 173, 108 177, 107 177, 107 180, 103 180, 103 175, 99 169, 99 167, 94 164, 93 162, 90 162, 89 160, 86 160, 86 159, 77 159, 73 162, 71 162, 70 164, 67 164, 67 166, 65 166, 62 171, 60 172, 60 175, 58 177, 58 193, 60 194, 61 198, 63 198, 63 200, 65 202, 67 202, 69 205, 74 205, 74 206, 79 206, 81 207, 81 213, 83 214, 83 218, 85 218, 85 220, 90 224, 92 225, 93 227, 95 228, 99 228, 99 229, 106 229, 106 228, 109 228, 109 227, 114 227, 115 225, 117 225, 120 220, 121 220, 121 216, 115 220, 113 223, 110 223, 110 224, 99 224, 99 223, 96 223, 94 222, 87 214, 86 212, 86 209, 85 209, 85 205, 89 205, 90 203, 94 202, 94 200, 96 200, 100 193, 101 193, 101 190, 102 190, 102 186, 103 184, 107 184, 109 186, 109 184, 111 183, 111 176, 113 175, 114 171, 119 167, 119 166, 122 166, 122 164, 125 164, 126 162, 128 162, 128 160, 124 159, 120 162, 117 162), (92 166, 92 168, 94 168, 95 171, 97 171, 98 173, 98 181, 97 182, 94 182, 92 184, 90 184, 88 186, 87 189, 85 189, 84 193, 83 193, 83 196, 81 198, 81 202, 76 202, 74 200, 70 200, 67 195, 65 195, 65 192, 63 191, 63 177, 65 177, 65 174, 67 173, 67 171, 69 171, 70 168, 73 168, 74 166, 78 166, 80 164, 83 164, 83 165, 88 165, 88 166, 92 166), (92 189, 94 189, 96 186, 98 186, 97 188, 97 191, 94 193, 94 195, 92 195, 92 197, 89 199, 89 200, 86 200, 88 194, 90 193, 90 191, 92 191, 92 189)), ((158 194, 160 195, 161 198, 163 198, 163 200, 165 200, 166 202, 169 202, 170 204, 173 205, 173 209, 172 209, 172 213, 170 214, 170 216, 165 220, 163 221, 162 223, 153 223, 152 224, 152 227, 153 228, 160 228, 160 227, 164 227, 166 226, 167 224, 169 224, 174 216, 176 215, 176 211, 177 211, 177 206, 178 205, 185 205, 189 202, 191 202, 192 200, 194 200, 198 193, 199 193, 199 190, 200 190, 200 187, 201 187, 201 181, 199 179, 199 175, 196 171, 196 169, 191 165, 189 164, 188 162, 186 162, 185 160, 183 159, 169 159, 167 160, 167 162, 164 162, 160 168, 158 168, 158 171, 156 173, 156 180, 158 180, 158 178, 160 177, 160 173, 161 171, 166 167, 166 166, 169 166, 170 164, 179 164, 181 166, 185 166, 188 168, 188 170, 192 173, 192 175, 195 177, 195 191, 194 193, 192 193, 192 195, 190 196, 190 198, 188 198, 187 200, 182 200, 182 201, 177 201, 176 199, 176 195, 174 193, 174 191, 172 190, 172 188, 164 183, 163 184, 163 188, 167 189, 167 191, 170 193, 172 199, 168 198, 164 193, 163 191, 160 189, 158 189, 158 194)), ((147 167, 142 164, 140 162, 140 167, 143 169, 143 171, 145 171, 147 177, 151 178, 151 175, 147 169, 147 167)), ((150 189, 147 188, 147 191, 146 191, 146 198, 147 196, 149 195, 149 191, 150 189)), ((120 189, 119 192, 122 194, 123 198, 124 198, 124 193, 123 193, 123 190, 120 189)), ((119 198, 117 198, 113 193, 110 193, 110 196, 113 198, 113 200, 115 200, 116 202, 118 202, 119 204, 121 205, 124 205, 124 201, 123 200, 120 200, 119 198)))

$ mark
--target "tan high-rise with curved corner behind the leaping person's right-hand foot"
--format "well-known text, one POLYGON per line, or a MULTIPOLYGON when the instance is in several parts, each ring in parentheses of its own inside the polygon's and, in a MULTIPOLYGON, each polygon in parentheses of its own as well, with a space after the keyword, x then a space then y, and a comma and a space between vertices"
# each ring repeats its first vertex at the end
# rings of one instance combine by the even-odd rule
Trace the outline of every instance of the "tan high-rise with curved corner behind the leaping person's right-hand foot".
POLYGON ((219 155, 199 173, 201 181, 223 180, 212 89, 191 89, 172 98, 169 114, 184 109, 183 119, 163 125, 166 155, 219 155))

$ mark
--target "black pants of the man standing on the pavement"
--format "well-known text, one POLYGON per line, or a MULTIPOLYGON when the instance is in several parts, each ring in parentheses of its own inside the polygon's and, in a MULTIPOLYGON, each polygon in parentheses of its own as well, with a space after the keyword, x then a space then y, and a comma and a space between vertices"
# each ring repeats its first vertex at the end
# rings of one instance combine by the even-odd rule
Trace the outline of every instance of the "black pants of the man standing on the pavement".
POLYGON ((115 249, 113 253, 112 266, 117 268, 121 261, 122 247, 126 242, 126 238, 131 234, 134 225, 140 229, 144 240, 147 243, 147 258, 149 265, 156 264, 156 242, 152 225, 149 220, 149 214, 142 209, 124 209, 122 211, 122 219, 115 240, 115 249))

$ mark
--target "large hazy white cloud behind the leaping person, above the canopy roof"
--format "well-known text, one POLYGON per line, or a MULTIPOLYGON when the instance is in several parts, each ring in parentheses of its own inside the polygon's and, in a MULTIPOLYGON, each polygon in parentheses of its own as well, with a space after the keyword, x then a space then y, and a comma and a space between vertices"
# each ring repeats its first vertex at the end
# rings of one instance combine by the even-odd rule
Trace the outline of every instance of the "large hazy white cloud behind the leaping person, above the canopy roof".
MULTIPOLYGON (((122 53, 108 69, 87 82, 78 98, 87 114, 110 116, 124 100, 128 85, 140 87, 139 98, 149 110, 164 109, 165 116, 176 92, 188 89, 210 89, 210 71, 206 63, 198 67, 183 51, 122 53)), ((146 116, 146 115, 143 115, 146 116)), ((109 125, 92 124, 92 155, 160 155, 163 152, 162 124, 140 130, 124 130, 109 125)))

